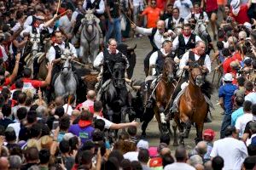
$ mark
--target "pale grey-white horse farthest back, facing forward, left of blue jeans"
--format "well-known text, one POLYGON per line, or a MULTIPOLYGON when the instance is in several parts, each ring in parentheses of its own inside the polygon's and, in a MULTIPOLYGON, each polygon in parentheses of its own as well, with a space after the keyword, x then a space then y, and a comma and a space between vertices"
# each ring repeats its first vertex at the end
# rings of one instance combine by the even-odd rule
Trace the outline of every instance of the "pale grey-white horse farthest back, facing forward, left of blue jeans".
POLYGON ((100 51, 100 31, 96 26, 99 20, 92 13, 92 10, 87 10, 85 18, 80 26, 80 51, 79 57, 84 63, 93 63, 96 55, 100 51))

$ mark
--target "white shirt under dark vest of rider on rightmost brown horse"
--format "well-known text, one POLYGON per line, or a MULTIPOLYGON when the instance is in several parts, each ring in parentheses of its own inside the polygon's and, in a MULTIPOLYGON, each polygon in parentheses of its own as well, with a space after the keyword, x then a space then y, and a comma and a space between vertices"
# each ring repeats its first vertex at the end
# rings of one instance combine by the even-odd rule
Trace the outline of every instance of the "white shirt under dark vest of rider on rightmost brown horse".
MULTIPOLYGON (((195 54, 195 60, 197 61, 199 58, 200 56, 195 54)), ((184 66, 186 66, 188 62, 189 62, 189 51, 183 54, 182 59, 180 59, 179 69, 183 70, 184 66)), ((204 65, 206 65, 208 71, 211 72, 212 65, 211 65, 211 59, 208 54, 206 55, 204 65)))

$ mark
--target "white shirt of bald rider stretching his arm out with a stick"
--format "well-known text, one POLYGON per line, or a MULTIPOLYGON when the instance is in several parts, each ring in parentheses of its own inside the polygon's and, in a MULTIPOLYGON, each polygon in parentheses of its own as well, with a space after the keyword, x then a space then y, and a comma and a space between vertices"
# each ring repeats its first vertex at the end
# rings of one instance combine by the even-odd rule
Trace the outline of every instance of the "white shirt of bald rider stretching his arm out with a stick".
MULTIPOLYGON (((135 31, 145 36, 150 36, 152 34, 152 30, 153 28, 143 28, 139 26, 135 28, 135 31)), ((160 32, 157 30, 154 34, 153 42, 155 43, 156 47, 159 49, 162 47, 162 37, 163 35, 160 34, 160 32)))

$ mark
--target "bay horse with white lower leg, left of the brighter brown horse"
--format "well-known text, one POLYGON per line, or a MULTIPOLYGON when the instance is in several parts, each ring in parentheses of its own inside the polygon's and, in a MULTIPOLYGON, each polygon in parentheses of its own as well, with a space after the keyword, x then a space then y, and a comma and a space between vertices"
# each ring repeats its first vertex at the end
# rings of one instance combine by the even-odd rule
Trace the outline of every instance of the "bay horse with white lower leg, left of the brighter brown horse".
POLYGON ((162 76, 160 76, 160 80, 154 92, 154 112, 146 111, 147 114, 145 114, 144 116, 144 122, 142 126, 143 135, 146 135, 146 128, 148 126, 148 122, 152 120, 153 116, 155 116, 158 122, 160 133, 172 134, 170 122, 165 122, 165 120, 162 120, 160 115, 164 114, 164 112, 166 111, 166 106, 169 105, 169 100, 172 98, 172 93, 176 86, 175 73, 176 64, 174 60, 172 58, 166 57, 163 65, 162 76))

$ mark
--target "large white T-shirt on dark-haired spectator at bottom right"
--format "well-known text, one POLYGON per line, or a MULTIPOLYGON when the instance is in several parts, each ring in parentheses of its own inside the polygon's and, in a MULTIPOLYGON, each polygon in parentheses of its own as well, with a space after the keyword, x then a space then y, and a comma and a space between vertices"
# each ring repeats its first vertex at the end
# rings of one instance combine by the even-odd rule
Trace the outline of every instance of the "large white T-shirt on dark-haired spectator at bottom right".
POLYGON ((224 159, 223 170, 240 170, 248 152, 241 140, 227 137, 214 142, 210 156, 221 156, 224 159))

